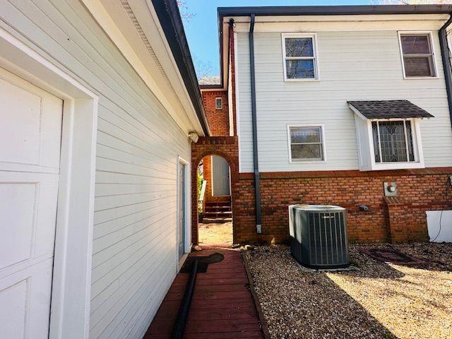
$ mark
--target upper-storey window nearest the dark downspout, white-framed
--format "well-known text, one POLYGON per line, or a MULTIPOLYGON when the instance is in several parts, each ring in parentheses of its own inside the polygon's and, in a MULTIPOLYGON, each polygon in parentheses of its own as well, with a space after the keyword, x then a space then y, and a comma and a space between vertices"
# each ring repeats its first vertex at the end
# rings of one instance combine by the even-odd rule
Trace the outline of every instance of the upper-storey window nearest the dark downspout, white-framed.
POLYGON ((316 35, 283 34, 285 81, 317 80, 316 35))

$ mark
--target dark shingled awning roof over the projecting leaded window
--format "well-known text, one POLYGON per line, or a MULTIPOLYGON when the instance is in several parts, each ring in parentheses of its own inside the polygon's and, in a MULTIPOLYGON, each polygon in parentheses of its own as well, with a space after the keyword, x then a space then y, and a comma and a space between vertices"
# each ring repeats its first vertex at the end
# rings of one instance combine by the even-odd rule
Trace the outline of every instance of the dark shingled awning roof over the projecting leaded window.
POLYGON ((367 119, 433 118, 432 114, 408 100, 347 101, 347 104, 367 119))

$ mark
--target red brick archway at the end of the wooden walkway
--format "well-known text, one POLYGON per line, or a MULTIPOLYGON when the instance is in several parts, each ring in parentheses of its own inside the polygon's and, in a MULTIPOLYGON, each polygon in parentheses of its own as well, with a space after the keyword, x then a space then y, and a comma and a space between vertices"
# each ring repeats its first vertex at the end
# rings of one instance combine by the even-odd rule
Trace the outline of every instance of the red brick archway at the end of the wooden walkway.
MULTIPOLYGON (((232 220, 234 220, 234 202, 237 200, 237 182, 239 175, 237 137, 213 136, 199 138, 197 143, 191 144, 191 239, 194 245, 198 244, 198 165, 204 157, 218 155, 224 158, 230 166, 232 220)), ((234 224, 233 224, 234 225, 234 224)), ((235 242, 234 226, 232 228, 233 241, 235 242)))

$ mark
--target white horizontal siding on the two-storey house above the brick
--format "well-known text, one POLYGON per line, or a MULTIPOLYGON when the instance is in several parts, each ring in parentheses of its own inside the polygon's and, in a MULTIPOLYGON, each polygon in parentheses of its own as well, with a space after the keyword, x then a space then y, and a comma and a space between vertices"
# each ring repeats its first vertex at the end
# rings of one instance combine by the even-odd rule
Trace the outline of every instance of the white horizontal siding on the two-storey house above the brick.
MULTIPOLYGON (((437 30, 432 39, 439 78, 405 80, 397 30, 317 32, 321 80, 297 83, 284 81, 281 33, 255 32, 260 171, 358 169, 355 121, 347 100, 406 99, 426 109, 434 118, 420 122, 425 166, 452 166, 437 30), (297 124, 324 125, 326 162, 288 161, 287 125, 297 124)), ((237 64, 240 172, 253 172, 248 33, 237 32, 237 64)))

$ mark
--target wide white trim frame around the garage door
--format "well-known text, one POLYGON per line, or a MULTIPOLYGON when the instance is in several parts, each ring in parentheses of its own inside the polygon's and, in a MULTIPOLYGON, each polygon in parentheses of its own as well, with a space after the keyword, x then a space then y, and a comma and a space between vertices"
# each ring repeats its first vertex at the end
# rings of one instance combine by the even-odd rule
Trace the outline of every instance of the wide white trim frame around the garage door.
POLYGON ((98 97, 2 28, 0 51, 1 67, 64 100, 49 338, 88 338, 98 97))

